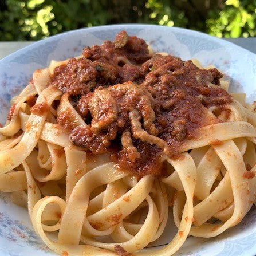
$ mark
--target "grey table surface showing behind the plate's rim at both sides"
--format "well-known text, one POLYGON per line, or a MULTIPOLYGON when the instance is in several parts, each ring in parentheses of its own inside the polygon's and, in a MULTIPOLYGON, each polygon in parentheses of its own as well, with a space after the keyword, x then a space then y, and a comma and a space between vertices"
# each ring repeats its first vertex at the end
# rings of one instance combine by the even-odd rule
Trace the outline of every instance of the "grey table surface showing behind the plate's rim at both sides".
MULTIPOLYGON (((256 54, 256 37, 250 38, 225 38, 229 42, 250 50, 256 54)), ((21 49, 27 45, 32 44, 34 41, 15 41, 15 42, 0 42, 0 60, 1 58, 21 49)))

